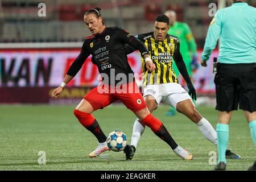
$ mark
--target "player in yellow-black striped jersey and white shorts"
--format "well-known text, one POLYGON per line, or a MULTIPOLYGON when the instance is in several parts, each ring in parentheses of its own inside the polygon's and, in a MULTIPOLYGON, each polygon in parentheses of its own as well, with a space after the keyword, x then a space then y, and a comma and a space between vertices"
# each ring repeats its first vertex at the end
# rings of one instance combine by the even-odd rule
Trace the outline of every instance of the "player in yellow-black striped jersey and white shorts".
MULTIPOLYGON (((148 48, 151 60, 156 66, 155 70, 150 72, 146 69, 145 61, 142 59, 142 71, 144 73, 143 98, 151 112, 157 109, 161 101, 174 107, 180 113, 183 113, 191 119, 191 121, 195 122, 204 137, 217 146, 216 131, 207 119, 203 118, 196 110, 192 102, 192 98, 196 100, 196 90, 189 78, 187 68, 181 56, 179 39, 176 36, 167 34, 170 28, 169 23, 169 18, 166 15, 159 15, 155 19, 154 32, 135 36, 135 38, 141 40, 148 48), (189 93, 178 83, 172 69, 172 59, 175 61, 179 72, 187 82, 189 93)), ((135 51, 135 48, 126 46, 125 51, 129 54, 135 51)), ((136 151, 139 138, 143 131, 144 126, 139 122, 139 119, 137 119, 133 127, 131 145, 127 145, 124 150, 126 159, 133 159, 134 152, 136 151)), ((179 148, 176 148, 176 150, 177 151, 174 150, 174 152, 176 154, 179 153, 179 148)), ((231 153, 232 152, 229 150, 226 152, 226 154, 231 153)), ((192 155, 188 155, 188 158, 189 156, 192 155)))

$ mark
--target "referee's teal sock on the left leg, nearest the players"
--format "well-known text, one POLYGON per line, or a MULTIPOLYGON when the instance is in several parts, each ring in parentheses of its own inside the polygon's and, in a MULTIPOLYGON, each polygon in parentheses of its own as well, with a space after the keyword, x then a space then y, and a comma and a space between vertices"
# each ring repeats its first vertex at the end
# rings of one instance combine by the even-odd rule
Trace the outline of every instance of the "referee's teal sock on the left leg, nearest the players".
POLYGON ((229 125, 226 124, 217 124, 217 143, 218 143, 218 163, 226 163, 226 147, 229 142, 229 125))

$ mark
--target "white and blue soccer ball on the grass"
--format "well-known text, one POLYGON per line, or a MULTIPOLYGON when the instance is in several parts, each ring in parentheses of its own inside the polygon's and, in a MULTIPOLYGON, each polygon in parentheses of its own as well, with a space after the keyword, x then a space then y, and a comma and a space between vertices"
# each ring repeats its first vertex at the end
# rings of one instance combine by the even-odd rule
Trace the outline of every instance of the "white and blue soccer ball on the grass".
POLYGON ((116 130, 109 134, 106 142, 110 150, 119 152, 125 148, 127 144, 127 138, 126 135, 122 133, 122 131, 116 130))

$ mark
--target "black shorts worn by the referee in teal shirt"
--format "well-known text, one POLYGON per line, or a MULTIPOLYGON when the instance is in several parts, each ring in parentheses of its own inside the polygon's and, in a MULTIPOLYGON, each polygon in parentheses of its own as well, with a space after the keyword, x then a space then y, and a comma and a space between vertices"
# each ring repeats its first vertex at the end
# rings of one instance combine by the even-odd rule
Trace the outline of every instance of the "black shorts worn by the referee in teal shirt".
POLYGON ((217 64, 216 110, 256 111, 256 63, 217 64))

